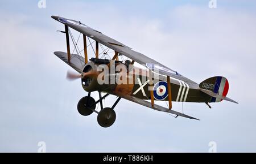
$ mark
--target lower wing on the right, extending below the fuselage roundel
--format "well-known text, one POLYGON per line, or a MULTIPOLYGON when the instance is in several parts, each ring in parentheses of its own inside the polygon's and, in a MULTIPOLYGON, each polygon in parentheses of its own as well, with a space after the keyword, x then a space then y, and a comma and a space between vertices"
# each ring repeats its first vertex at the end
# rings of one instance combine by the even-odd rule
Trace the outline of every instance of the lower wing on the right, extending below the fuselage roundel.
POLYGON ((197 118, 193 118, 192 116, 189 116, 189 115, 185 115, 185 114, 182 114, 182 113, 179 113, 177 111, 174 111, 174 110, 170 110, 170 109, 167 109, 166 107, 162 107, 162 106, 159 106, 159 105, 154 105, 154 107, 152 107, 151 103, 150 102, 147 102, 145 100, 141 100, 139 98, 136 98, 136 97, 133 97, 133 96, 130 96, 130 95, 127 95, 127 94, 121 94, 121 93, 116 93, 117 96, 119 97, 122 97, 126 100, 129 100, 129 101, 133 101, 135 103, 138 103, 139 105, 143 105, 143 106, 146 106, 146 107, 150 107, 151 109, 154 109, 154 110, 158 110, 158 111, 164 111, 166 113, 171 113, 171 114, 175 114, 177 116, 183 116, 185 118, 189 118, 189 119, 196 119, 196 120, 199 120, 197 118))

